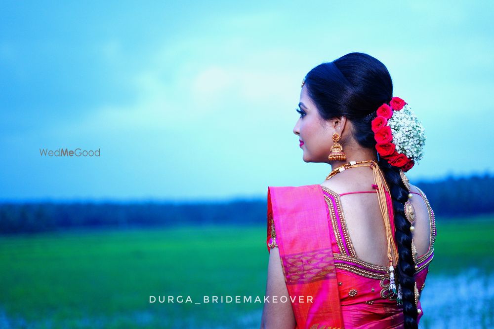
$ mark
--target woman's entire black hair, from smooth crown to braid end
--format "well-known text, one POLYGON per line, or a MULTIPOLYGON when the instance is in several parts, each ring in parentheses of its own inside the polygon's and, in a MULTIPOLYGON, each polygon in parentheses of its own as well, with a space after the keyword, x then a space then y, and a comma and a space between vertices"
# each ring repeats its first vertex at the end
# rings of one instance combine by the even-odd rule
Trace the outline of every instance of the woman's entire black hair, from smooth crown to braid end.
MULTIPOLYGON (((320 116, 329 120, 346 117, 353 125, 353 137, 357 143, 372 149, 376 156, 376 141, 371 130, 375 111, 383 103, 391 101, 393 83, 380 61, 364 53, 349 53, 332 62, 316 66, 305 76, 308 94, 320 116)), ((340 142, 343 146, 345 141, 340 142)), ((405 218, 404 204, 409 191, 400 177, 399 168, 379 158, 379 168, 384 174, 393 201, 395 238, 399 262, 395 271, 397 286, 401 283, 405 328, 417 328, 415 305, 415 263, 412 257, 412 232, 405 218)))

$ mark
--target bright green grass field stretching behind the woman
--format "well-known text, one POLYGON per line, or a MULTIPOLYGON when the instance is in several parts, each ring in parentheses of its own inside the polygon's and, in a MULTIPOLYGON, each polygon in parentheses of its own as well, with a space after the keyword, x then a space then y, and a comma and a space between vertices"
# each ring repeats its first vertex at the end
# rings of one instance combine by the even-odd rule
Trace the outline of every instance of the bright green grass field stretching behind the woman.
MULTIPOLYGON (((429 276, 494 273, 492 218, 438 219, 437 230, 429 276)), ((262 303, 202 299, 264 295, 265 233, 210 226, 1 237, 0 328, 258 328, 262 303), (150 303, 150 295, 184 297, 150 303)))

